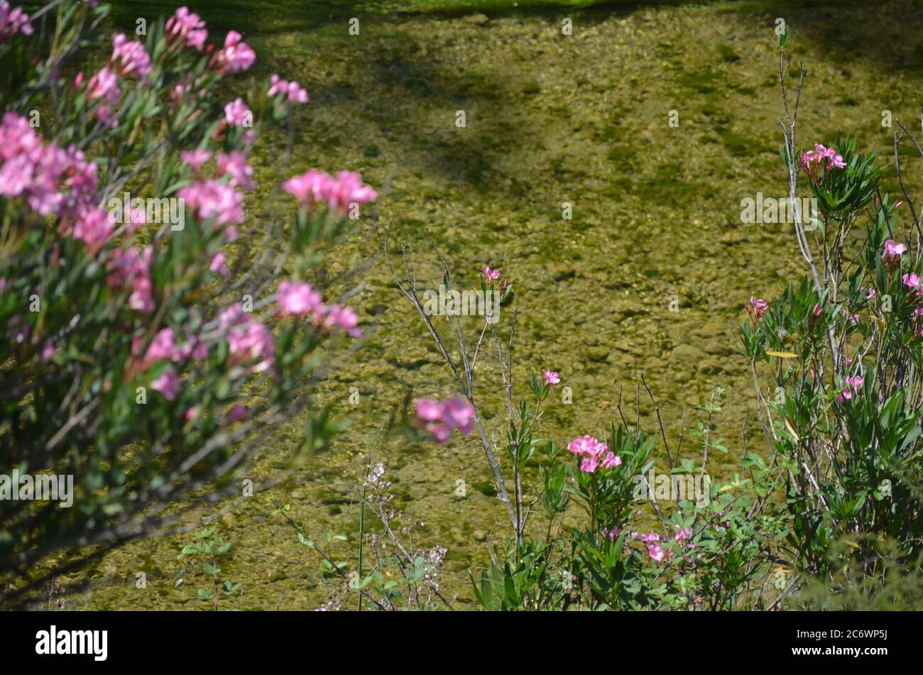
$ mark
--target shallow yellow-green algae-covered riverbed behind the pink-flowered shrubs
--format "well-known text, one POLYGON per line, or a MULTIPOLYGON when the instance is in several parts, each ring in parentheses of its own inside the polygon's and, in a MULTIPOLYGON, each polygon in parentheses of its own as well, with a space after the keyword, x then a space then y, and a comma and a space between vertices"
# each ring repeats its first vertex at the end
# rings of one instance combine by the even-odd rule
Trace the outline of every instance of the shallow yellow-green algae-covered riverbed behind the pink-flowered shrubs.
MULTIPOLYGON (((173 9, 116 5, 112 23, 121 30, 173 9)), ((918 114, 923 62, 907 36, 919 30, 921 13, 911 2, 189 5, 216 30, 244 33, 258 53, 257 77, 278 72, 310 93, 295 118, 293 171, 345 168, 379 191, 387 185, 380 219, 392 221, 392 239, 409 246, 421 278, 441 276, 428 228, 460 278, 473 284, 489 265, 514 282, 515 377, 524 385, 529 370, 558 370, 572 390, 571 403, 552 400, 543 435, 567 444, 607 428, 619 387, 634 410, 642 371, 675 437, 684 407, 688 420, 698 419, 692 407, 720 386, 716 420, 730 452, 710 462, 719 475, 733 471, 745 435, 758 440, 748 364, 736 351, 743 302, 772 296, 803 272, 791 226, 740 219, 742 199, 785 195, 774 19, 791 26, 792 58, 809 71, 802 145, 845 130, 887 154, 893 129, 882 126, 882 111, 910 121, 918 114), (358 35, 349 32, 354 17, 358 35), (571 19, 572 34, 562 34, 562 18, 571 19), (463 128, 455 124, 460 110, 463 128), (671 111, 678 124, 670 124, 671 111), (572 219, 561 218, 565 202, 572 219)), ((256 163, 275 152, 258 149, 256 163)), ((885 176, 893 184, 893 170, 885 176)), ((330 272, 376 255, 363 221, 330 272)), ((289 503, 314 535, 346 535, 340 551, 352 559, 366 445, 408 394, 453 393, 383 262, 365 276, 351 304, 368 328, 380 312, 378 325, 320 397, 351 426, 291 480, 212 524, 233 544, 224 573, 244 583, 228 609, 318 607, 326 597, 318 560, 295 545, 270 501, 289 503)), ((480 396, 496 429, 502 410, 492 372, 485 368, 480 396)), ((646 397, 640 412, 654 432, 646 397)), ((267 444, 255 477, 282 466, 299 431, 282 430, 267 444)), ((444 594, 470 599, 466 570, 488 562, 490 543, 509 535, 485 487, 479 445, 473 437, 423 444, 395 432, 376 457, 397 505, 426 523, 427 542, 449 550, 444 594), (458 480, 469 486, 464 496, 458 480)), ((65 590, 91 580, 68 607, 209 609, 191 584, 175 586, 186 539, 134 542, 63 578, 65 590), (136 588, 139 571, 145 589, 136 588)))

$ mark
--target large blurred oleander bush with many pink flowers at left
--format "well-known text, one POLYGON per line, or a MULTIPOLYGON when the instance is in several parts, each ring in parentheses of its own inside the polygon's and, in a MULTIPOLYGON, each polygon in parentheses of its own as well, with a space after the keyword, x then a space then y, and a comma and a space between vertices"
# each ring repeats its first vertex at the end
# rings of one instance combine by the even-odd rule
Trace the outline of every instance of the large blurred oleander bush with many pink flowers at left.
POLYGON ((299 452, 324 448, 340 423, 311 392, 361 335, 310 280, 375 191, 310 171, 267 176, 268 208, 251 204, 248 155, 305 89, 273 76, 219 98, 257 54, 234 30, 210 40, 186 7, 111 36, 84 74, 104 16, 95 1, 31 17, 0 3, 0 464, 73 477, 69 504, 0 500, 10 606, 114 545, 187 528, 196 491, 240 496, 287 420, 304 425, 299 452))

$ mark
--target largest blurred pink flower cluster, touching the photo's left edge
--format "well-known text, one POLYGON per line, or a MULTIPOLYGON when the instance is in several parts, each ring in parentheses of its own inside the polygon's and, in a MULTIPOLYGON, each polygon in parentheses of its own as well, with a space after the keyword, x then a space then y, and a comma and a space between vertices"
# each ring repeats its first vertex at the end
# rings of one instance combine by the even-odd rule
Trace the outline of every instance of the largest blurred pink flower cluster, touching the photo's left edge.
POLYGON ((88 245, 112 236, 108 214, 95 206, 97 167, 76 146, 45 143, 24 117, 6 113, 0 123, 0 195, 22 196, 42 216, 57 216, 65 230, 88 245))

